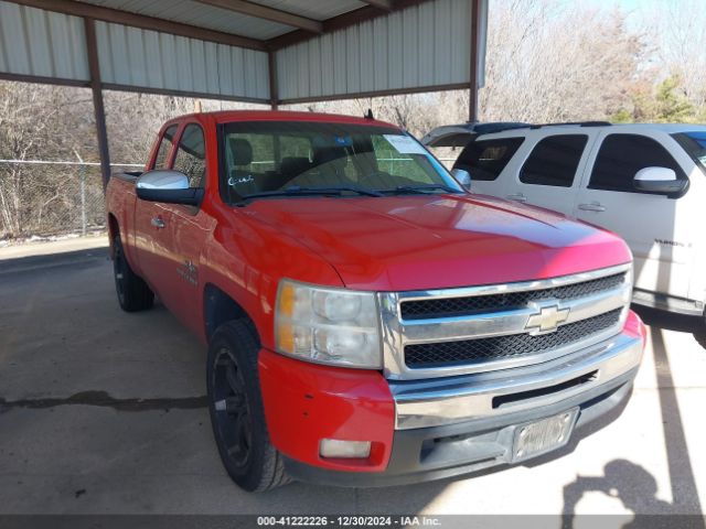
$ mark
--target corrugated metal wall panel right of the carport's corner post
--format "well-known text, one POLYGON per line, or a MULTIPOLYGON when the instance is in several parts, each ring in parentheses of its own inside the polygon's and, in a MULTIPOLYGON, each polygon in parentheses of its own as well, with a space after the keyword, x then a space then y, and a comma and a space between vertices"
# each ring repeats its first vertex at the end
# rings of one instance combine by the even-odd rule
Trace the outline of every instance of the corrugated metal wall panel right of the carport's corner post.
POLYGON ((434 0, 277 52, 281 99, 469 83, 470 4, 434 0))

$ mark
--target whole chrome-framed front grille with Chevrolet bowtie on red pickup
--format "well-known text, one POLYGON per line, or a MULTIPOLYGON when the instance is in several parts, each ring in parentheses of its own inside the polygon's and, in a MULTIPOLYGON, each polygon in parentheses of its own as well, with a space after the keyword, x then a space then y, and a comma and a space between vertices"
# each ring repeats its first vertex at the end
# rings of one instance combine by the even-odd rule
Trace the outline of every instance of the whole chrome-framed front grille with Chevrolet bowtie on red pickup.
POLYGON ((631 264, 546 280, 381 292, 384 371, 419 379, 528 366, 619 334, 631 264))

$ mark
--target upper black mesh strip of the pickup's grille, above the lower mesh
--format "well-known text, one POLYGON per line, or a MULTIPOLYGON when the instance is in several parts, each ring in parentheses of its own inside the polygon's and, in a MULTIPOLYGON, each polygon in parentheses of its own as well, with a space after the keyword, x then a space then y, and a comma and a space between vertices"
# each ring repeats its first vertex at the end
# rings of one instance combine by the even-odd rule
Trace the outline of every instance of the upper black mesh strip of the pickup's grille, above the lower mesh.
POLYGON ((614 289, 624 281, 625 272, 622 272, 605 278, 549 289, 509 292, 502 294, 471 295, 464 298, 405 301, 400 303, 400 314, 404 320, 424 320, 506 311, 524 306, 531 301, 546 298, 566 301, 591 295, 614 289))

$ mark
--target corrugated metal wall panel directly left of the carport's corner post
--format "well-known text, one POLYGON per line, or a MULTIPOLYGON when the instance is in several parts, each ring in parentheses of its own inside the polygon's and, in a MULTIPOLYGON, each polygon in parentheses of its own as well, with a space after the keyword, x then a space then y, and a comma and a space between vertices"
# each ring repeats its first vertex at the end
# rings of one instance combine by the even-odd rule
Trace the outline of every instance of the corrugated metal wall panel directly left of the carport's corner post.
POLYGON ((168 33, 96 22, 106 84, 269 98, 267 54, 168 33))

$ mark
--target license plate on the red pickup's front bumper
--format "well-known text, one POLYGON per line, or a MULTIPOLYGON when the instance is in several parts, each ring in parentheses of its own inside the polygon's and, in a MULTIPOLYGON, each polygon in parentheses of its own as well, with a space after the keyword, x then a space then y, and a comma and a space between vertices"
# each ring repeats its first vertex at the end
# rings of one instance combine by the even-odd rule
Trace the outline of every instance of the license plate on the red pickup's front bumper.
POLYGON ((517 425, 512 461, 527 460, 564 446, 571 436, 577 417, 578 408, 574 408, 558 415, 517 425))

